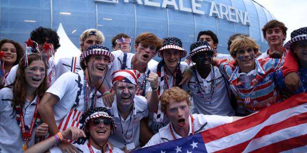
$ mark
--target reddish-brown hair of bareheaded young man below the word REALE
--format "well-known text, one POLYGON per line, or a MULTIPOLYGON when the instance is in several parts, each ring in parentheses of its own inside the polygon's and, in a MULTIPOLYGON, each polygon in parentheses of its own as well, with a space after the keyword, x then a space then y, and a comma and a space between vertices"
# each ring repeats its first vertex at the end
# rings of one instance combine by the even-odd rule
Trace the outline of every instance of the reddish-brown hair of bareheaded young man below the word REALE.
POLYGON ((162 40, 152 33, 141 33, 135 41, 136 45, 139 45, 139 43, 148 46, 153 44, 157 47, 156 51, 158 51, 162 46, 162 40))

